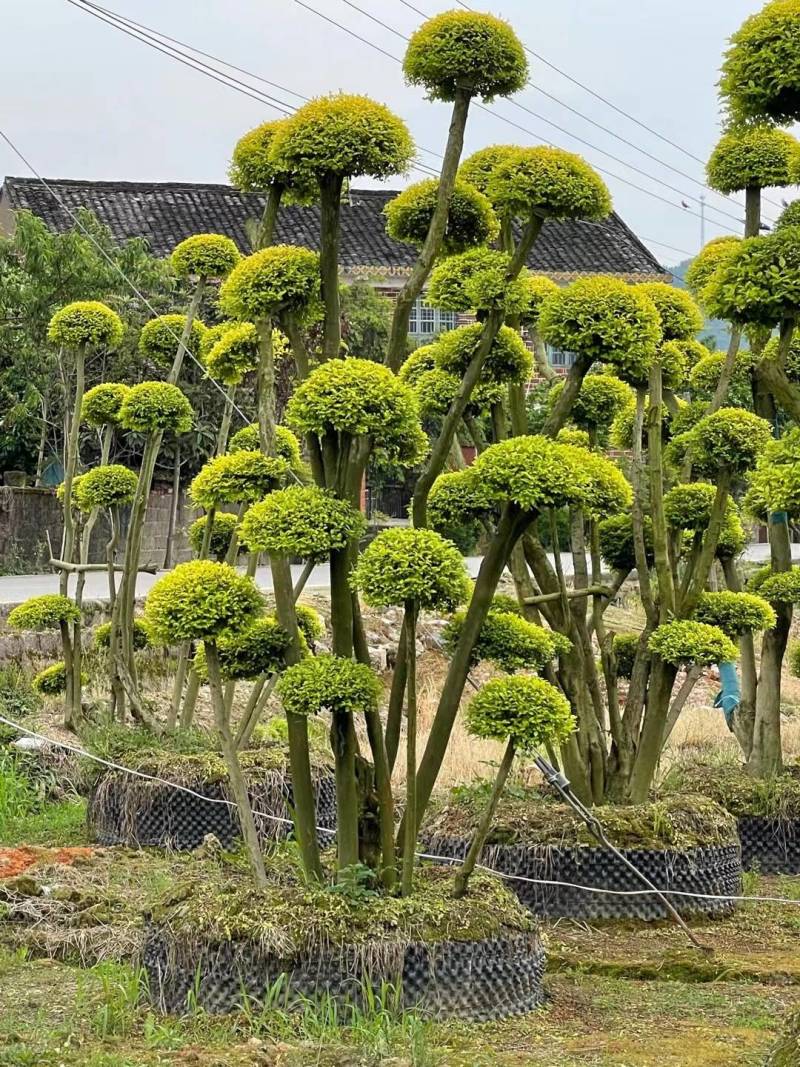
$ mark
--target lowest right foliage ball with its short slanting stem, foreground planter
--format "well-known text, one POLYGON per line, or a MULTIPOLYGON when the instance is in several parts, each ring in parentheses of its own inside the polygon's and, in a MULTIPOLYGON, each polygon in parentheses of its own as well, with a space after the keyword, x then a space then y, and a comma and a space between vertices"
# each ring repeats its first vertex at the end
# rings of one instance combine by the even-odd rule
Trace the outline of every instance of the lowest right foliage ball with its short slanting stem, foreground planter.
POLYGON ((486 807, 464 862, 455 875, 453 895, 462 897, 486 843, 492 818, 517 752, 528 753, 566 740, 575 729, 570 702, 541 678, 518 675, 487 682, 469 701, 466 728, 474 737, 506 743, 486 807))

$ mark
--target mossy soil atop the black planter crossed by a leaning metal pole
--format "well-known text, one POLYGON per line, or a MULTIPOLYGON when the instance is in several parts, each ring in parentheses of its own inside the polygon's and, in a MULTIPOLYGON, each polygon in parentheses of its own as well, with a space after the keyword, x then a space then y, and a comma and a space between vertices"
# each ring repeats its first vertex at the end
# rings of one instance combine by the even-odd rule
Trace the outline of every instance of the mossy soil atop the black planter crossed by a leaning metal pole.
MULTIPOLYGON (((486 802, 489 785, 461 786, 434 803, 426 833, 468 837, 486 802)), ((736 821, 707 796, 668 795, 649 805, 595 808, 609 840, 620 848, 686 849, 737 841, 736 821)), ((596 846, 572 808, 539 789, 512 786, 500 799, 489 841, 503 845, 596 846)))

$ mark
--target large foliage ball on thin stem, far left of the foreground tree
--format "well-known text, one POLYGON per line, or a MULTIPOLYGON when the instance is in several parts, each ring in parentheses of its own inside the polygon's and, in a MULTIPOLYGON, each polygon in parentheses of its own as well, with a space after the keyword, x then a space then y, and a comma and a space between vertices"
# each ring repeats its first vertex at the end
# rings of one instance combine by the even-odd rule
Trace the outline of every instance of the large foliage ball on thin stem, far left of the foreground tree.
POLYGON ((179 563, 156 583, 144 605, 153 640, 213 640, 246 626, 263 610, 255 582, 227 563, 179 563))

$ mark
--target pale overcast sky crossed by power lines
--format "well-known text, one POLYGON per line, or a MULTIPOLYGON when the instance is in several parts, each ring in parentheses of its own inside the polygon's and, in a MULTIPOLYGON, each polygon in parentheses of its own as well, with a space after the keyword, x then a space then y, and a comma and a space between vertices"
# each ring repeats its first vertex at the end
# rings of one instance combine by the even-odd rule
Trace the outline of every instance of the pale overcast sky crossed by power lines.
MULTIPOLYGON (((300 0, 100 2, 303 96, 335 90, 373 96, 409 123, 419 158, 437 162, 421 149, 441 152, 449 107, 431 103, 418 90, 405 86, 397 62, 304 10, 300 0)), ((401 0, 353 2, 402 34, 420 21, 401 0)), ((397 34, 358 14, 346 0, 307 3, 385 51, 402 55, 404 42, 397 34)), ((414 6, 433 14, 451 7, 452 0, 414 0, 414 6)), ((496 0, 486 10, 506 17, 530 49, 705 160, 719 136, 716 81, 722 50, 742 19, 761 6, 757 0, 496 0)), ((45 176, 224 181, 237 138, 278 117, 269 107, 130 39, 67 0, 9 3, 3 38, 0 125, 45 176)), ((631 124, 541 60, 530 57, 530 61, 535 86, 662 162, 646 158, 530 86, 515 100, 535 116, 507 100, 495 103, 492 114, 474 111, 465 150, 516 142, 551 143, 578 152, 597 168, 669 202, 605 175, 615 209, 662 262, 674 264, 684 252, 695 252, 700 220, 679 205, 685 200, 699 211, 693 197, 704 191, 697 184, 704 177, 702 164, 631 124), (595 147, 581 145, 544 120, 595 147)), ((288 92, 261 89, 293 106, 300 102, 288 92)), ((29 173, 2 143, 0 170, 29 173)), ((406 180, 421 176, 412 173, 406 180)), ((394 182, 402 184, 403 179, 394 182)), ((719 207, 738 218, 737 207, 706 193, 706 239, 738 228, 734 219, 710 210, 719 207)), ((780 198, 781 193, 771 196, 775 203, 780 198)), ((774 218, 775 208, 767 204, 766 213, 774 218)))

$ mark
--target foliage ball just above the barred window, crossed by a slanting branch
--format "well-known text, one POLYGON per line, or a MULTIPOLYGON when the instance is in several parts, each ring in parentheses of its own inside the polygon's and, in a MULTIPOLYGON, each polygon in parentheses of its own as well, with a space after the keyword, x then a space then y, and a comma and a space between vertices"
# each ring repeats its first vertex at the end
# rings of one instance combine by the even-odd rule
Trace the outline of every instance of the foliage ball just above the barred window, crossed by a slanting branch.
POLYGON ((448 256, 431 272, 427 300, 449 312, 491 312, 522 315, 530 306, 525 275, 508 280, 511 256, 494 249, 470 249, 448 256))

